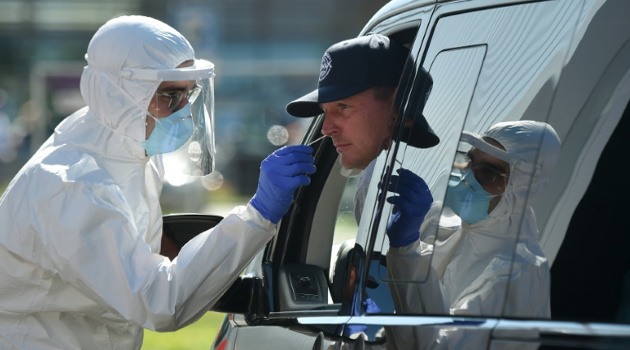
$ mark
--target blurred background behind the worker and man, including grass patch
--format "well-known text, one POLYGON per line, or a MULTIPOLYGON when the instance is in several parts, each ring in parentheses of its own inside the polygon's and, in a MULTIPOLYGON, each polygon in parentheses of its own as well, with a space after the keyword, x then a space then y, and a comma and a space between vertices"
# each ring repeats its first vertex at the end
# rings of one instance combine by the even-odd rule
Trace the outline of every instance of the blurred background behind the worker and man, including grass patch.
MULTIPOLYGON (((355 37, 386 0, 0 0, 0 191, 66 116, 84 106, 79 79, 94 32, 141 14, 188 38, 216 67, 212 181, 168 182, 164 214, 225 215, 254 194, 260 161, 298 143, 308 119, 285 105, 317 85, 325 49, 355 37), (268 137, 272 128, 285 139, 268 137)), ((176 332, 147 331, 145 349, 208 349, 222 314, 176 332)))

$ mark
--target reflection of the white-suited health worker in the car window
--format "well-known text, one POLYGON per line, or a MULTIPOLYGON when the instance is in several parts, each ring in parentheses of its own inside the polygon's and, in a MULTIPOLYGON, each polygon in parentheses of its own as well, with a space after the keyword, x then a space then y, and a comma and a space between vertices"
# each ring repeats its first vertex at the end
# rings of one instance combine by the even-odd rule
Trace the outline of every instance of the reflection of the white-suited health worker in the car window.
MULTIPOLYGON (((412 172, 391 178, 398 195, 388 198, 388 277, 415 281, 390 283, 396 312, 549 318, 549 265, 531 203, 558 160, 556 132, 542 122, 501 122, 483 136, 464 132, 459 150, 443 206, 431 205, 412 172)), ((388 349, 485 348, 489 339, 465 327, 393 330, 388 349)))

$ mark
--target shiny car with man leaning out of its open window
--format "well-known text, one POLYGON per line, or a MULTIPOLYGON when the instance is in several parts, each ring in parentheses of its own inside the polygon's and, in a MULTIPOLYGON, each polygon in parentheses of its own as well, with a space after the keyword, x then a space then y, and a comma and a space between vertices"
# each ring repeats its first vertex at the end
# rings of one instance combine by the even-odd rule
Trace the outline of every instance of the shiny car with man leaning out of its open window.
MULTIPOLYGON (((410 48, 414 69, 398 88, 404 116, 426 98, 417 72, 431 74, 423 114, 440 143, 417 149, 397 132, 371 176, 344 176, 331 140, 317 141, 324 116, 314 116, 303 143, 316 141, 317 172, 295 194, 277 236, 212 307, 226 314, 212 349, 388 348, 388 331, 403 327, 462 331, 480 341, 457 349, 630 348, 630 193, 623 175, 630 145, 628 13, 625 0, 387 3, 359 35, 383 34, 410 48), (389 285, 403 281, 387 274, 392 207, 379 200, 379 182, 399 164, 441 199, 462 131, 482 133, 513 120, 547 122, 562 140, 548 189, 533 204, 551 269, 551 318, 397 311, 389 285), (357 188, 367 191, 362 208, 355 207, 357 188), (359 278, 348 302, 350 266, 359 278), (380 312, 352 311, 366 295, 380 312), (359 336, 348 334, 353 324, 362 326, 359 336)), ((165 218, 165 227, 175 222, 174 231, 192 232, 205 220, 177 217, 165 218)), ((202 226, 219 220, 209 216, 202 226)), ((429 338, 415 340, 430 344, 429 338)))

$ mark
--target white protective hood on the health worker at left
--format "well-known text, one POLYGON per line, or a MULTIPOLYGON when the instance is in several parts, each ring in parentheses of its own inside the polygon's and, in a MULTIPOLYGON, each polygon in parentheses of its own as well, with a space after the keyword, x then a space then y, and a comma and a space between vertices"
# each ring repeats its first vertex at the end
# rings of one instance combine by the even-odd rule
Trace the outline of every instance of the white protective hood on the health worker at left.
POLYGON ((92 37, 85 55, 81 94, 89 113, 122 136, 127 152, 144 158, 147 108, 158 80, 125 74, 125 69, 172 69, 195 59, 179 32, 153 18, 122 16, 108 21, 92 37), (142 48, 142 49, 138 49, 142 48))

